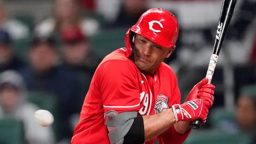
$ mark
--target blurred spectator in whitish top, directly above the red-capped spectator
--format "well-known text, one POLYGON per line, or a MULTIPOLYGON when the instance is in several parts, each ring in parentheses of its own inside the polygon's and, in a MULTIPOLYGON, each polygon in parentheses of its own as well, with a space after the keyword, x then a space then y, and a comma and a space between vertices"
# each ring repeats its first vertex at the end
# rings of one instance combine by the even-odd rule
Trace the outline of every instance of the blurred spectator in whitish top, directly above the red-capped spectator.
POLYGON ((70 25, 79 26, 83 34, 92 36, 99 29, 99 23, 95 19, 83 17, 78 0, 55 0, 54 17, 50 17, 35 27, 35 33, 39 36, 49 36, 70 25))

